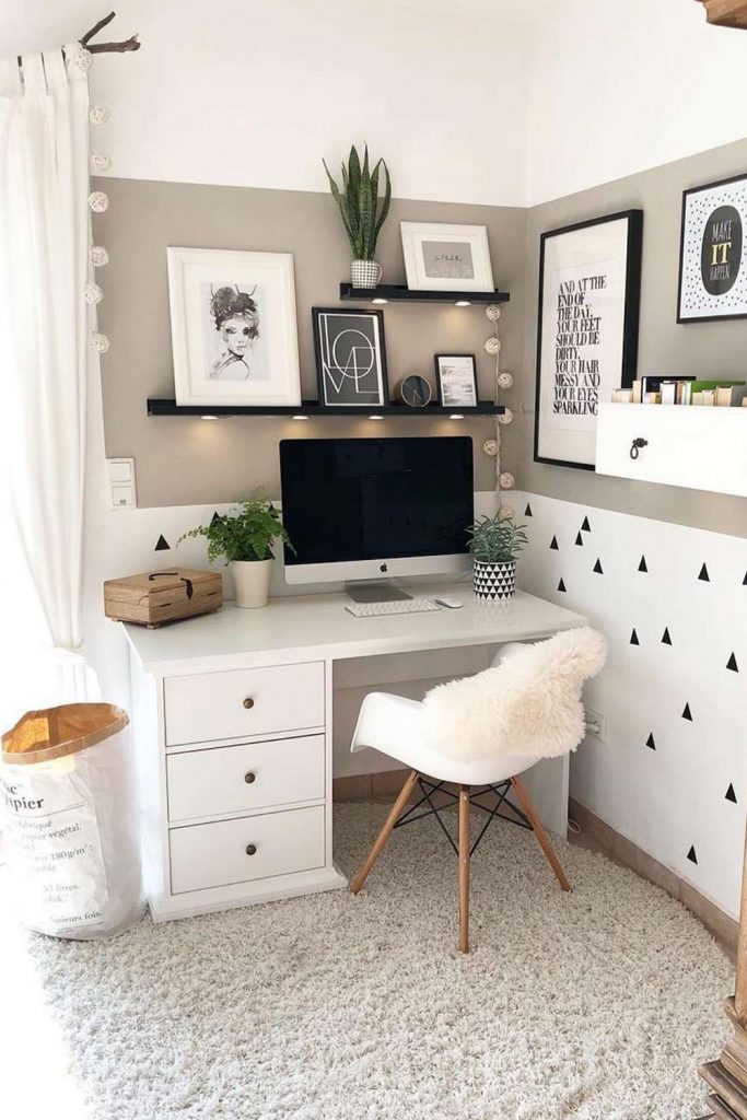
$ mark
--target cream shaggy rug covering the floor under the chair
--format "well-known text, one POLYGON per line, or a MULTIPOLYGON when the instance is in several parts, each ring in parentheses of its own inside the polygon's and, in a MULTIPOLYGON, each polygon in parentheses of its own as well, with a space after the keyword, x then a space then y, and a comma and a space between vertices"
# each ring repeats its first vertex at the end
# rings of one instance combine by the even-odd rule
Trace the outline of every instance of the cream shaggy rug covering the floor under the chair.
MULTIPOLYGON (((347 872, 384 813, 336 809, 347 872)), ((432 820, 394 833, 357 898, 144 921, 106 944, 28 937, 80 1116, 702 1116, 695 1070, 729 1034, 731 967, 662 892, 558 849, 571 895, 530 833, 491 828, 474 860, 469 956, 455 948, 456 858, 432 820)))

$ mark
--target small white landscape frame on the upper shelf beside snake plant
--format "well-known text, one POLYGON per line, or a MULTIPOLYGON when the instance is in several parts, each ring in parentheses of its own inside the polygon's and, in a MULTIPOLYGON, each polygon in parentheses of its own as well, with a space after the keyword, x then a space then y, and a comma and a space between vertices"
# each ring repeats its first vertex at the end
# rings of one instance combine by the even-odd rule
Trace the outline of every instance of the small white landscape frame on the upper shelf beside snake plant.
POLYGON ((493 291, 487 227, 400 222, 411 291, 493 291))

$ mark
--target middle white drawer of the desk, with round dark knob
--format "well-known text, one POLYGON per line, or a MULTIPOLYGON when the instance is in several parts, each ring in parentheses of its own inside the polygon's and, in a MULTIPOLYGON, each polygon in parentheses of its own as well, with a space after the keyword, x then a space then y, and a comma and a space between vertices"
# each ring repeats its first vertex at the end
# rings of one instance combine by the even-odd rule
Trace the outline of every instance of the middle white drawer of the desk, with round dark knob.
POLYGON ((171 823, 325 795, 324 735, 189 750, 166 767, 171 823))

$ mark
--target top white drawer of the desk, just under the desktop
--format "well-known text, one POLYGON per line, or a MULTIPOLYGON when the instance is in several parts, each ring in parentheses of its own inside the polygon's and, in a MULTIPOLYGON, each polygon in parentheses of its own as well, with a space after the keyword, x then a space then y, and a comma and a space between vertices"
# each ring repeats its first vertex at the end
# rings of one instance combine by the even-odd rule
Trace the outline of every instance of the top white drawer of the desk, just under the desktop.
POLYGON ((178 746, 321 727, 324 702, 320 661, 169 676, 166 741, 178 746))

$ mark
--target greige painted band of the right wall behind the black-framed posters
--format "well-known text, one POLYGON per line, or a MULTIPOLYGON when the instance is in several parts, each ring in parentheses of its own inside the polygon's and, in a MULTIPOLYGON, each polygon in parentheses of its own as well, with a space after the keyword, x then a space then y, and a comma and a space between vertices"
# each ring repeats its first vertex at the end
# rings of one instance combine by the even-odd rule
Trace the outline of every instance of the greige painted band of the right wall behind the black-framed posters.
MULTIPOLYGON (((747 536, 747 501, 725 494, 628 482, 533 461, 536 300, 540 234, 601 214, 644 211, 638 374, 747 377, 747 319, 676 324, 682 192, 747 171, 747 140, 701 152, 529 211, 526 346, 521 416, 508 430, 506 464, 517 485, 568 502, 747 536)), ((747 432, 746 432, 747 438, 747 432)), ((693 455, 698 448, 693 447, 693 455)))

